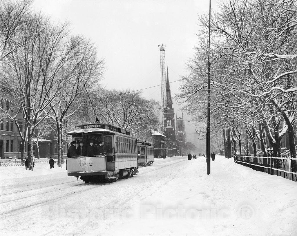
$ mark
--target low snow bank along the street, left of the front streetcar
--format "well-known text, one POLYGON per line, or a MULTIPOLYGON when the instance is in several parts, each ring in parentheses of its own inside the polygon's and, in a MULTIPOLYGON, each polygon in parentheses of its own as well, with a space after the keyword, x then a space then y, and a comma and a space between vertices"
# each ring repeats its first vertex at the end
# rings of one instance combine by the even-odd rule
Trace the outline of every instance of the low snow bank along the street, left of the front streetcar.
POLYGON ((42 163, 42 164, 37 163, 35 165, 36 166, 33 171, 29 169, 26 170, 25 166, 1 166, 0 180, 67 172, 66 164, 63 164, 62 168, 59 168, 56 164, 54 164, 53 169, 50 169, 50 165, 48 163, 42 163))

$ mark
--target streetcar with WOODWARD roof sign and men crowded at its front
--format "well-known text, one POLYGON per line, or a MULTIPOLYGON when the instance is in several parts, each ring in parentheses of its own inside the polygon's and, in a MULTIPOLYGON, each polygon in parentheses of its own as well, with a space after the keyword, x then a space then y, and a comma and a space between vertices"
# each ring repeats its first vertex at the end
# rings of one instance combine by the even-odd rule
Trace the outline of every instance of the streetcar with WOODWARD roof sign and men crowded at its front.
POLYGON ((102 151, 83 153, 67 159, 67 175, 80 177, 85 183, 128 178, 138 173, 137 139, 128 130, 106 123, 89 123, 77 126, 68 132, 75 143, 83 143, 86 148, 95 150, 103 144, 102 151), (98 147, 98 146, 97 146, 98 147), (89 155, 88 155, 89 154, 89 155))

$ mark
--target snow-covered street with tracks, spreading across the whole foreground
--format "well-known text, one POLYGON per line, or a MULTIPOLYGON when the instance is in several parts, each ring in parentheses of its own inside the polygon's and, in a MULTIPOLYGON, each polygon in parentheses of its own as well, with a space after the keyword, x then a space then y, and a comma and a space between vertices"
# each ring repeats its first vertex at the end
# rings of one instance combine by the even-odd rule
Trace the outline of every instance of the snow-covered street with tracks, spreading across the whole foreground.
POLYGON ((221 156, 209 176, 204 157, 171 157, 112 184, 4 169, 1 235, 297 235, 296 183, 221 156))

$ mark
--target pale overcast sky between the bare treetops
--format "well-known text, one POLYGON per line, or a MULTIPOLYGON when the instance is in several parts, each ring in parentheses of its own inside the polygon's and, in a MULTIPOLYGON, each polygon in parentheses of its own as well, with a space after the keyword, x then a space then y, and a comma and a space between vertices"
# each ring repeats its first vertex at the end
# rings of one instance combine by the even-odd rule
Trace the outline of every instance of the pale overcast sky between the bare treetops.
MULTIPOLYGON (((216 1, 211 4, 216 7, 216 1)), ((166 45, 170 82, 187 74, 185 63, 193 57, 198 39, 198 15, 208 12, 209 1, 35 0, 34 9, 53 20, 69 21, 74 34, 94 42, 98 56, 105 59, 103 84, 107 88, 139 90, 161 83, 159 44, 166 45)), ((178 87, 179 82, 170 84, 172 96, 178 87)), ((142 93, 161 100, 160 86, 142 93)), ((181 116, 178 106, 173 107, 181 116)), ((187 140, 203 149, 194 125, 187 119, 185 125, 187 140)))

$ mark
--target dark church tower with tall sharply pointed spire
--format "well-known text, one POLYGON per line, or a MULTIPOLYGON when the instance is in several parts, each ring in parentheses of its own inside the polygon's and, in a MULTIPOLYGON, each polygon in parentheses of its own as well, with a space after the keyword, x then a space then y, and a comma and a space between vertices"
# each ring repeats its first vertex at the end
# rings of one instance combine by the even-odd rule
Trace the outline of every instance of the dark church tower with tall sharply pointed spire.
POLYGON ((164 134, 167 137, 167 154, 174 156, 177 155, 177 142, 176 142, 176 130, 175 130, 175 119, 174 111, 172 107, 172 98, 169 84, 168 67, 166 77, 166 97, 165 97, 165 109, 164 109, 164 134))

